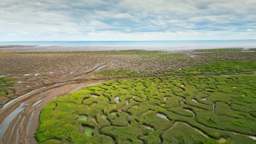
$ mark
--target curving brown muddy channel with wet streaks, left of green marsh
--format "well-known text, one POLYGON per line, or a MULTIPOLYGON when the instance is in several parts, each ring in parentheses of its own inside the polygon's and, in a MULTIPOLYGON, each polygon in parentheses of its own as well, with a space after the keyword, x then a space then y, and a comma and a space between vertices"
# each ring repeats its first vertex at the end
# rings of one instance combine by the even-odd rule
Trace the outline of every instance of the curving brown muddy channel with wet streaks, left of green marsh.
POLYGON ((0 111, 0 143, 37 143, 34 134, 39 124, 40 111, 46 104, 60 95, 102 82, 104 81, 61 83, 16 99, 0 111))

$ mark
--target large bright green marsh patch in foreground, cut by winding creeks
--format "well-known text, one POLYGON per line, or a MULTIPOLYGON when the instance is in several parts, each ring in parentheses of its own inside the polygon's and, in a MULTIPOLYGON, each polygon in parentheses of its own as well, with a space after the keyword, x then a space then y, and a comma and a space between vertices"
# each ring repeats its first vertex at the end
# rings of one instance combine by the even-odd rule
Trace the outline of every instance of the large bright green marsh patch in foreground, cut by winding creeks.
POLYGON ((256 135, 255 81, 255 75, 110 80, 51 101, 41 112, 36 139, 254 143, 246 135, 256 135))

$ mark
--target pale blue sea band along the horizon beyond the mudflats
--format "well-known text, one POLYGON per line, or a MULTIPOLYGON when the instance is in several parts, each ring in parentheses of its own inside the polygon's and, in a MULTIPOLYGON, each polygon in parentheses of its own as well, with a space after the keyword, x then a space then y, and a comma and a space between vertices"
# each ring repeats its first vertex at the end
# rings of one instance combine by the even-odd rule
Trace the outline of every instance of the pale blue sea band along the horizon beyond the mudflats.
MULTIPOLYGON (((218 48, 255 48, 256 40, 173 40, 173 41, 7 41, 0 46, 84 47, 84 50, 194 50, 218 48), (90 48, 90 49, 89 49, 90 48)), ((80 49, 80 48, 79 48, 80 49)))

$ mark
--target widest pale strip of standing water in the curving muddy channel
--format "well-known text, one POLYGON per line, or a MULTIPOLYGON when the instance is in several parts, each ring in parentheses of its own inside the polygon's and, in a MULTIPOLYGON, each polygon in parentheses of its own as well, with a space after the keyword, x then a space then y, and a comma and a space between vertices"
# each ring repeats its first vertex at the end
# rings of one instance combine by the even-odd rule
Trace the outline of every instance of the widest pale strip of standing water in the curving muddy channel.
POLYGON ((20 106, 15 109, 13 112, 11 112, 4 121, 0 124, 0 140, 3 139, 3 136, 5 134, 5 131, 8 129, 10 123, 13 121, 13 119, 25 109, 25 103, 20 104, 20 106))

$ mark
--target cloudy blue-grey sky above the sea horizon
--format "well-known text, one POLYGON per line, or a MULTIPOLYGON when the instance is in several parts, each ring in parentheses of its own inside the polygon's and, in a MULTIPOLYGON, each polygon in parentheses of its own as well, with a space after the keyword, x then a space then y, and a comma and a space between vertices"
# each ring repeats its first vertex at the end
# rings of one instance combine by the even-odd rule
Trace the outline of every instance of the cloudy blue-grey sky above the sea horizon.
POLYGON ((1 0, 0 41, 256 39, 255 0, 1 0))

